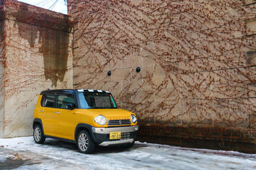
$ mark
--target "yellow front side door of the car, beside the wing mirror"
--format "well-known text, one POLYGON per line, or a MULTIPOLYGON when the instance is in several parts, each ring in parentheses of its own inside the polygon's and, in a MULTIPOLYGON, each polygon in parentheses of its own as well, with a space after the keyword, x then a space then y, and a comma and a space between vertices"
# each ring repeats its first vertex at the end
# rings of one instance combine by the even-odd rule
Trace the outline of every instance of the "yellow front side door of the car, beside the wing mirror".
POLYGON ((58 137, 74 140, 76 113, 68 108, 68 104, 76 105, 71 93, 57 94, 57 109, 60 112, 58 137))

